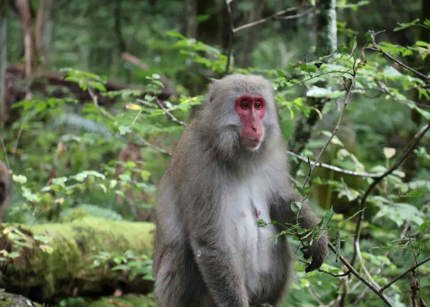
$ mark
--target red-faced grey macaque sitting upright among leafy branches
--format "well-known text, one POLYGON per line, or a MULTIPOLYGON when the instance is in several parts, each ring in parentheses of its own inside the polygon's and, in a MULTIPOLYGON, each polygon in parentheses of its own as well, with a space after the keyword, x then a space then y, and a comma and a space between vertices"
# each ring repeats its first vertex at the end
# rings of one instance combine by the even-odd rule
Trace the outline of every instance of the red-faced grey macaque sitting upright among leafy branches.
MULTIPOLYGON (((292 281, 285 230, 319 218, 289 181, 272 87, 263 77, 215 80, 160 181, 156 206, 155 295, 160 307, 276 305, 292 281)), ((309 243, 308 243, 309 244, 309 243)), ((306 271, 328 255, 325 232, 305 252, 306 271)))

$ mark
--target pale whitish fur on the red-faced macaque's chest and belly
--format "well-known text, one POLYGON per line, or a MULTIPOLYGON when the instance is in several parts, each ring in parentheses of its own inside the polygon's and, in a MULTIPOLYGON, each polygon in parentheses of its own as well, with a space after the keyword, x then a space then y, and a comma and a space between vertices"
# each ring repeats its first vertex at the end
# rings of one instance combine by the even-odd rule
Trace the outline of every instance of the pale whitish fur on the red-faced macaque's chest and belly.
POLYGON ((257 220, 270 223, 270 178, 254 176, 246 182, 231 184, 224 194, 223 233, 228 246, 233 246, 233 258, 240 259, 248 291, 260 286, 261 274, 270 271, 273 264, 273 225, 257 226, 257 220))

